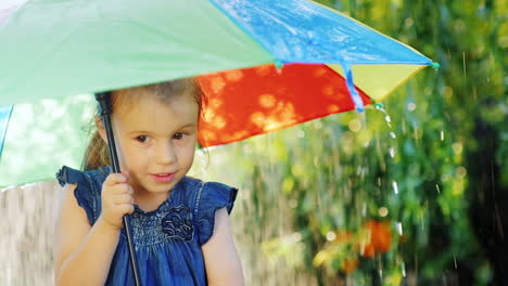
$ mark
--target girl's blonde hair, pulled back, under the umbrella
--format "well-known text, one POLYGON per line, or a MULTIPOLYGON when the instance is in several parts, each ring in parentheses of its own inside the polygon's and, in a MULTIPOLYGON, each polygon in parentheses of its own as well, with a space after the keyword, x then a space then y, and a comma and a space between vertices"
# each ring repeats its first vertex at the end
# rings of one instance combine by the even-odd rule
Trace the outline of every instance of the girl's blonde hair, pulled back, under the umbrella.
MULTIPOLYGON (((141 94, 139 91, 151 92, 162 101, 167 101, 177 94, 192 94, 195 99, 195 102, 198 103, 200 118, 203 115, 203 106, 205 106, 207 103, 206 95, 201 90, 199 82, 194 78, 185 78, 136 88, 115 90, 111 95, 112 113, 115 112, 115 108, 117 109, 120 103, 123 105, 131 104, 132 101, 136 100, 136 96, 132 95, 141 94), (119 94, 129 95, 118 96, 119 94)), ((99 114, 96 112, 96 118, 97 116, 99 116, 99 114)), ((94 125, 92 126, 93 127, 91 130, 93 134, 90 138, 81 164, 81 169, 84 171, 94 170, 111 165, 107 144, 104 142, 104 140, 102 140, 94 125)), ((199 138, 202 139, 201 132, 199 132, 199 138)))

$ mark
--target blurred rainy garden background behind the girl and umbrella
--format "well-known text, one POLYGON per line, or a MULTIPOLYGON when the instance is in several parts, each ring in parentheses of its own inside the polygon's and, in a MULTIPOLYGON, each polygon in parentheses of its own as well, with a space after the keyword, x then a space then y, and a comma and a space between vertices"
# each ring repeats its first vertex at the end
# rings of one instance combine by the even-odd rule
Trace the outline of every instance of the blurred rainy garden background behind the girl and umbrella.
MULTIPOLYGON (((508 1, 319 2, 441 69, 381 109, 199 152, 193 176, 240 188, 247 285, 508 285, 508 1)), ((51 285, 58 184, 2 191, 0 285, 51 285)))

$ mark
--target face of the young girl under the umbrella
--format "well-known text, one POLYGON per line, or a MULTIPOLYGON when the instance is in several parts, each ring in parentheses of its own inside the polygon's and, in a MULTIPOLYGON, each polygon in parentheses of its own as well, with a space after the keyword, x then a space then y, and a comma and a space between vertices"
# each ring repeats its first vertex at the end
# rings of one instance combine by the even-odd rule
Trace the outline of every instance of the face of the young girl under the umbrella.
POLYGON ((135 193, 165 194, 192 166, 198 103, 191 94, 163 101, 148 90, 140 93, 119 100, 112 116, 120 170, 135 193))

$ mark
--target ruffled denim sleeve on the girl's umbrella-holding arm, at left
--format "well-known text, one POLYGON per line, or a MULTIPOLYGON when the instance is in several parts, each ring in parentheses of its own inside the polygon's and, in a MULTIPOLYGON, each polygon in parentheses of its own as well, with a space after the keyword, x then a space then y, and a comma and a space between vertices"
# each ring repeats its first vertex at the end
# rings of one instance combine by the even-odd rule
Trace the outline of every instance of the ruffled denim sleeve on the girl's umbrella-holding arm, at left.
POLYGON ((63 166, 56 173, 56 179, 62 186, 65 184, 77 185, 74 190, 74 196, 76 197, 78 205, 87 212, 87 218, 90 224, 93 224, 96 221, 96 196, 87 174, 67 166, 63 166))

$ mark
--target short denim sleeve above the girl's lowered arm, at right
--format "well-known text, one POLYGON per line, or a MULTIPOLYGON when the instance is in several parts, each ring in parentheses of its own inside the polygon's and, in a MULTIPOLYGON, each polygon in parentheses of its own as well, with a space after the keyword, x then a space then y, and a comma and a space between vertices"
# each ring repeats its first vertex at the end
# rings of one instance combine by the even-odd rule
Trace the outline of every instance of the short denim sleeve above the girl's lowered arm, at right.
POLYGON ((215 211, 224 207, 231 213, 238 190, 221 183, 208 182, 198 191, 195 211, 200 245, 208 242, 214 232, 215 211))

